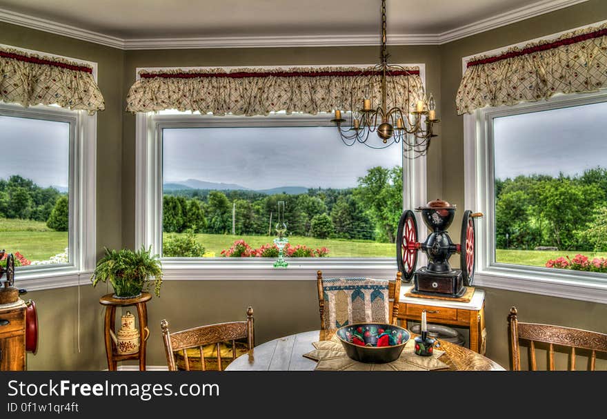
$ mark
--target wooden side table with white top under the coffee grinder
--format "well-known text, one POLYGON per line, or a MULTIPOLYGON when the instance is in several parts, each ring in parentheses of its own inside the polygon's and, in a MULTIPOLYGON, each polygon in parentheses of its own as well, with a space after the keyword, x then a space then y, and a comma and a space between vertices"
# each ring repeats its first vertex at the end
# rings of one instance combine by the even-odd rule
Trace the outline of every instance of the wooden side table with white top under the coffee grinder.
POLYGON ((434 300, 430 298, 405 297, 412 286, 401 287, 398 319, 407 326, 408 320, 421 321, 421 311, 427 313, 429 323, 450 324, 470 330, 470 349, 485 354, 487 332, 485 329, 485 291, 475 289, 470 302, 434 300))

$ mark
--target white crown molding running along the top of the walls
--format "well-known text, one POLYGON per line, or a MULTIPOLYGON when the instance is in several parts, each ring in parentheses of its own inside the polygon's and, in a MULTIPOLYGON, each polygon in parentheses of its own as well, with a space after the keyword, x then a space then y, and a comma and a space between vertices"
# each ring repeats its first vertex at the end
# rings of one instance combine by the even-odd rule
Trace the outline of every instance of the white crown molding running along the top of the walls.
MULTIPOLYGON (((469 25, 439 34, 388 35, 388 45, 441 45, 457 39, 476 35, 510 23, 574 6, 588 0, 540 0, 510 12, 498 14, 469 25)), ((11 12, 0 8, 0 21, 26 26, 36 30, 99 43, 121 50, 161 50, 186 48, 288 48, 323 46, 377 46, 377 35, 310 35, 272 37, 166 37, 121 39, 75 26, 41 19, 28 14, 11 12)))

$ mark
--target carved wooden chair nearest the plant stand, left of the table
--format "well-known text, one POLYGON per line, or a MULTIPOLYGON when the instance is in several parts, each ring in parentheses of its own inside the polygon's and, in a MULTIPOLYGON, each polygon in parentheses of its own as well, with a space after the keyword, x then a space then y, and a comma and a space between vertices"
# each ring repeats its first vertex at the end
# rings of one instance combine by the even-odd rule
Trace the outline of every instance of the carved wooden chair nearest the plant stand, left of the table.
POLYGON ((252 307, 247 309, 247 320, 243 322, 210 324, 175 333, 168 331, 166 320, 160 322, 160 327, 169 371, 177 371, 178 369, 207 371, 207 359, 210 355, 207 348, 210 345, 214 345, 209 349, 212 349, 212 356, 217 359, 216 369, 221 371, 227 367, 227 364, 237 358, 237 340, 246 340, 245 351, 250 351, 255 345, 252 307), (222 355, 228 348, 226 342, 232 343, 231 353, 228 351, 229 355, 227 357, 222 355), (192 353, 192 351, 194 352, 192 353), (182 362, 177 362, 176 357, 181 358, 179 361, 182 362), (192 362, 194 358, 196 362, 192 362), (192 368, 198 366, 199 368, 192 368))

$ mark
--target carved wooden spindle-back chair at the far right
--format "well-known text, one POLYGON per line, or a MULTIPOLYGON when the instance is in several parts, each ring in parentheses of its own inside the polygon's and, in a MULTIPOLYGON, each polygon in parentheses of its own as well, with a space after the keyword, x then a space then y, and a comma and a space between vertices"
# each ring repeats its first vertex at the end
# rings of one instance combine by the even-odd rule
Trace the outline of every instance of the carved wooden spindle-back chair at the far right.
POLYGON ((588 367, 590 371, 595 371, 597 352, 607 353, 606 334, 550 324, 521 323, 517 319, 517 308, 515 306, 510 309, 508 315, 508 338, 510 340, 510 367, 513 371, 521 371, 519 340, 530 342, 529 365, 532 371, 537 371, 535 342, 548 344, 549 371, 555 370, 555 345, 571 348, 569 354, 570 371, 575 370, 575 349, 590 351, 590 365, 588 367))

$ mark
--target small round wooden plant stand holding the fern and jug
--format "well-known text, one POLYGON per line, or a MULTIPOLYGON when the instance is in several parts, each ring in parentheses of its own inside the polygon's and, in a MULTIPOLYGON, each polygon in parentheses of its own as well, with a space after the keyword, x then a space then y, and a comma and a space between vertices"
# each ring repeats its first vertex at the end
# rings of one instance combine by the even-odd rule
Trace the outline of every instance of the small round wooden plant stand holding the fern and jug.
POLYGON ((106 338, 106 355, 108 355, 108 369, 116 371, 117 362, 124 360, 139 360, 139 371, 146 371, 146 339, 145 330, 148 327, 148 309, 146 302, 150 301, 150 293, 141 293, 136 298, 115 298, 112 294, 103 295, 99 298, 99 303, 106 306, 106 324, 104 335, 106 338), (130 355, 119 355, 116 344, 110 336, 110 331, 116 332, 116 307, 117 306, 137 306, 137 316, 139 317, 139 352, 130 355))

